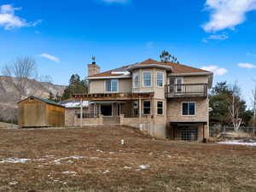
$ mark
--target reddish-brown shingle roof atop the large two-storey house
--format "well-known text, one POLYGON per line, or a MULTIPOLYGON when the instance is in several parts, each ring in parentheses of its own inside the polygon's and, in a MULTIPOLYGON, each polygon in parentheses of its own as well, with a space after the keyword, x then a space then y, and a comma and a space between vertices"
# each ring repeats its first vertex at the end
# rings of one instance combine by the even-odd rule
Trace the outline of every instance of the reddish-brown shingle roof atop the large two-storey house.
POLYGON ((90 77, 110 77, 110 76, 119 76, 120 74, 116 74, 116 73, 112 73, 112 72, 116 72, 116 71, 124 71, 125 69, 127 69, 128 67, 134 66, 134 65, 150 65, 150 64, 157 64, 157 65, 163 65, 163 66, 169 66, 172 67, 172 73, 211 73, 208 72, 206 70, 202 70, 200 68, 196 68, 196 67, 190 67, 190 66, 186 66, 183 64, 177 64, 177 63, 173 63, 173 62, 163 62, 163 61, 154 61, 152 59, 148 59, 146 61, 143 62, 139 62, 136 64, 131 64, 128 66, 124 66, 124 67, 119 67, 113 70, 109 70, 107 72, 103 72, 103 73, 98 73, 96 75, 90 76, 90 77))

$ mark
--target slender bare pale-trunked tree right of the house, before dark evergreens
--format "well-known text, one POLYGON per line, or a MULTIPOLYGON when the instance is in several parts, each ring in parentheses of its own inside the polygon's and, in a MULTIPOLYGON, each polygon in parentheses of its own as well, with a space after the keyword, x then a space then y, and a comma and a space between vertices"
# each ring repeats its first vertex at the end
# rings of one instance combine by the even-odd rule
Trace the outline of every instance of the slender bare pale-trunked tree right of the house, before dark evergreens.
POLYGON ((234 126, 235 131, 238 131, 241 125, 240 109, 241 109, 241 89, 238 86, 237 82, 233 84, 230 88, 230 96, 228 99, 228 108, 230 113, 230 119, 234 126))

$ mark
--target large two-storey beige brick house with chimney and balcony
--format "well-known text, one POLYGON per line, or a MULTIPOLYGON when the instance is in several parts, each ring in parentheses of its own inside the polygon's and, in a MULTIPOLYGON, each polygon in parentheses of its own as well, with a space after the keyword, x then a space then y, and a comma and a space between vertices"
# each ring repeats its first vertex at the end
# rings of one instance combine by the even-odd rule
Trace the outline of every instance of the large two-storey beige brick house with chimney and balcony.
POLYGON ((130 125, 153 137, 173 140, 209 137, 211 72, 148 59, 101 73, 92 62, 87 79, 89 94, 74 98, 91 102, 96 115, 90 122, 130 125))

